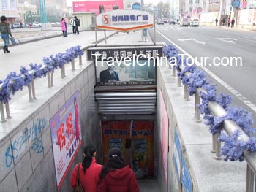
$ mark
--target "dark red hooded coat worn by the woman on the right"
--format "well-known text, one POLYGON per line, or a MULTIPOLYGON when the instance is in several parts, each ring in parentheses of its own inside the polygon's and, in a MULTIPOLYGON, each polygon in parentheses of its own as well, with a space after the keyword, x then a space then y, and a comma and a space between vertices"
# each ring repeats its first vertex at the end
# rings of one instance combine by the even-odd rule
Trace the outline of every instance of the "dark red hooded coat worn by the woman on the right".
POLYGON ((129 166, 108 172, 97 187, 98 192, 140 192, 135 174, 129 166))

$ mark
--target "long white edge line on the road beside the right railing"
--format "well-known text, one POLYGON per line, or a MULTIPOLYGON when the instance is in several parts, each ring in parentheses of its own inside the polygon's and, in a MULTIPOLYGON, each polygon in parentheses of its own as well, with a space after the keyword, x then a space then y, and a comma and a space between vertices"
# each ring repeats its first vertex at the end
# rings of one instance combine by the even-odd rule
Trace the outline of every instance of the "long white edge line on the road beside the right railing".
MULTIPOLYGON (((184 54, 188 55, 189 57, 192 57, 192 55, 189 55, 189 53, 187 53, 184 49, 182 49, 181 47, 179 47, 178 45, 176 45, 176 43, 172 42, 170 39, 168 39, 167 37, 165 37, 164 34, 160 33, 159 31, 157 31, 157 33, 159 33, 160 35, 162 35, 162 37, 164 37, 165 39, 167 39, 167 41, 169 41, 170 43, 172 43, 173 45, 175 45, 179 50, 181 50, 184 54)), ((198 62, 197 60, 195 61, 198 65, 200 65, 200 62, 198 62)), ((244 104, 246 104, 247 107, 249 107, 251 110, 256 112, 256 105, 253 104, 251 101, 249 101, 248 99, 246 99, 245 96, 243 96, 241 93, 239 93, 238 91, 236 91, 236 89, 234 89, 233 87, 231 87, 230 85, 227 84, 227 82, 221 80, 216 74, 214 74, 213 72, 211 72, 209 69, 207 69, 205 66, 201 66, 202 69, 208 73, 211 77, 213 77, 215 80, 217 80, 217 82, 219 82, 221 85, 223 85, 225 88, 227 88, 228 90, 230 90, 231 93, 233 93, 234 95, 236 95, 238 97, 238 99, 240 99, 244 104)))

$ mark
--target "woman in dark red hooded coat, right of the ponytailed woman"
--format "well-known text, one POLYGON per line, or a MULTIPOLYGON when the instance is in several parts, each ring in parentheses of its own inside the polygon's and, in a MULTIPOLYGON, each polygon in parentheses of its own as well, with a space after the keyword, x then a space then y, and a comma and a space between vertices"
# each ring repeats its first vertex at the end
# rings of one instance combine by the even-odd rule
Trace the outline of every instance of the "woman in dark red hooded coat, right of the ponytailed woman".
POLYGON ((112 148, 99 176, 98 192, 140 192, 135 174, 124 164, 121 150, 112 148))

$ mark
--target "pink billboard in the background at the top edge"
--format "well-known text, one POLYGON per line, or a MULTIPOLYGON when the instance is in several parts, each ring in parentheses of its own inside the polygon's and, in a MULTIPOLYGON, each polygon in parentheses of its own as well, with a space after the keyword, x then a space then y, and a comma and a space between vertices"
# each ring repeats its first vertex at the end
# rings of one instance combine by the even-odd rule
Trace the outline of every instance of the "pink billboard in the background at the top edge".
POLYGON ((73 12, 95 12, 99 14, 99 7, 104 7, 104 12, 113 10, 113 6, 124 9, 123 0, 107 0, 107 1, 73 1, 73 12))

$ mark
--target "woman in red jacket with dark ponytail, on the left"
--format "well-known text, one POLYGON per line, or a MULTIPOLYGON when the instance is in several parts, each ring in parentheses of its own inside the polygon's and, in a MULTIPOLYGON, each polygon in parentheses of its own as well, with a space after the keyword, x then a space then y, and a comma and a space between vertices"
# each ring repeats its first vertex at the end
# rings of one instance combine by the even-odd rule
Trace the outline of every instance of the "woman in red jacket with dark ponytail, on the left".
POLYGON ((97 184, 99 182, 99 174, 102 170, 102 165, 95 161, 96 150, 92 145, 88 145, 83 149, 83 162, 78 164, 72 171, 70 184, 75 188, 77 184, 78 167, 80 174, 80 183, 83 186, 83 191, 97 192, 97 184), (80 166, 79 166, 80 165, 80 166))

